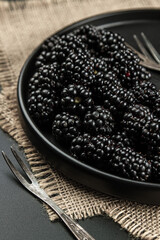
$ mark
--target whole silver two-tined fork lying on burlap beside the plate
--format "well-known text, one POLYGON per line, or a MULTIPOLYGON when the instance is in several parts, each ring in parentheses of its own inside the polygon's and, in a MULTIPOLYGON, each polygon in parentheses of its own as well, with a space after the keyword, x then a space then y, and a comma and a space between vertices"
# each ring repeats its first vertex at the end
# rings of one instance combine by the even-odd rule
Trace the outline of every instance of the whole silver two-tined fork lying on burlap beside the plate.
POLYGON ((10 159, 7 157, 4 151, 2 151, 2 155, 10 167, 13 174, 16 176, 16 178, 20 181, 20 183, 28 189, 32 194, 34 194, 36 197, 41 199, 43 202, 48 204, 57 214, 58 216, 63 220, 63 222, 66 224, 66 226, 70 229, 70 231, 74 234, 76 239, 78 240, 95 240, 93 237, 91 237, 78 223, 76 223, 72 218, 70 218, 61 208, 59 208, 54 201, 46 194, 46 192, 40 188, 36 178, 34 177, 33 173, 30 171, 30 169, 27 167, 27 165, 22 161, 20 156, 17 154, 15 149, 11 147, 11 151, 16 158, 17 162, 23 169, 23 171, 26 173, 28 178, 30 179, 31 183, 29 183, 22 174, 15 168, 13 163, 10 161, 10 159))

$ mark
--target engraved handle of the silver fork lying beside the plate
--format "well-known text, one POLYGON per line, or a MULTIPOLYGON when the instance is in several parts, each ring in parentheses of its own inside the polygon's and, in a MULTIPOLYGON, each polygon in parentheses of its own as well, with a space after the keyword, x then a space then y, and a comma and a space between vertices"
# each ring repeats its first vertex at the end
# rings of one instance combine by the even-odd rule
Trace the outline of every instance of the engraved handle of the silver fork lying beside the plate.
POLYGON ((44 194, 38 194, 43 202, 47 203, 62 219, 62 221, 67 225, 70 231, 78 240, 95 240, 89 233, 87 233, 77 222, 70 218, 61 208, 59 208, 50 197, 44 194))

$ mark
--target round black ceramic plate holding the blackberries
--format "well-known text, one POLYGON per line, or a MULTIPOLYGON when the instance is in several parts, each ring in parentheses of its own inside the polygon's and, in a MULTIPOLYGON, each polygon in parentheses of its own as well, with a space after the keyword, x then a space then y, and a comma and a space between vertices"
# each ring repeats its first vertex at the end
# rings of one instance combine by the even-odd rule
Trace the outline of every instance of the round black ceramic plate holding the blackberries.
MULTIPOLYGON (((107 13, 77 22, 57 32, 68 33, 84 24, 92 24, 123 35, 128 43, 135 46, 133 34, 142 31, 160 52, 160 10, 134 10, 107 13)), ((90 167, 72 158, 46 132, 42 132, 31 120, 26 106, 27 81, 33 73, 38 47, 25 62, 18 82, 18 103, 22 125, 33 144, 46 156, 46 159, 66 176, 98 191, 124 199, 149 204, 160 204, 160 184, 143 183, 117 177, 90 167)), ((152 72, 152 81, 160 87, 160 74, 152 72), (154 80, 153 80, 154 79, 154 80)))

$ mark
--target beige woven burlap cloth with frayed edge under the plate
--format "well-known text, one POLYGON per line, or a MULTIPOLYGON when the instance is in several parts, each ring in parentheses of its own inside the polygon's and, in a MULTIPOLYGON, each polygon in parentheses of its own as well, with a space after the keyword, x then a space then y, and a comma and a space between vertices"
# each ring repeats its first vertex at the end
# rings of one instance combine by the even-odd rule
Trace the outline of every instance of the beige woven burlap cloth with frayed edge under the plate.
MULTIPOLYGON (((99 13, 158 7, 159 0, 0 2, 0 127, 23 147, 40 186, 67 214, 75 219, 107 214, 133 236, 148 240, 160 239, 160 207, 95 192, 51 169, 21 127, 16 88, 28 55, 55 31, 99 13)), ((57 215, 45 207, 50 220, 55 220, 57 215)))

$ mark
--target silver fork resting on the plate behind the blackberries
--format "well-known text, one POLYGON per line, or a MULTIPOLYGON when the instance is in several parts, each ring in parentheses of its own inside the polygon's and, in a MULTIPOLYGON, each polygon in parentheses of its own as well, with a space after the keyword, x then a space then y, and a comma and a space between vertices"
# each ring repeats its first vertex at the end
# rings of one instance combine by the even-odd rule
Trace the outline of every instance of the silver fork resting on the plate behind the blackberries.
POLYGON ((142 43, 142 41, 140 41, 136 34, 134 34, 133 37, 142 53, 137 51, 128 43, 126 43, 126 45, 139 56, 139 58, 141 59, 140 64, 146 68, 160 71, 160 54, 157 52, 157 50, 146 37, 146 35, 143 32, 141 33, 144 44, 142 43))

